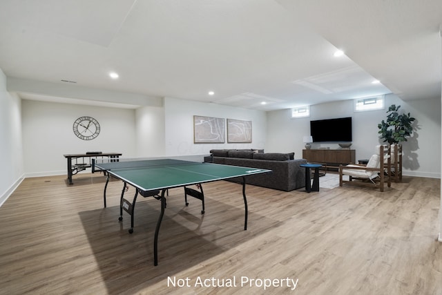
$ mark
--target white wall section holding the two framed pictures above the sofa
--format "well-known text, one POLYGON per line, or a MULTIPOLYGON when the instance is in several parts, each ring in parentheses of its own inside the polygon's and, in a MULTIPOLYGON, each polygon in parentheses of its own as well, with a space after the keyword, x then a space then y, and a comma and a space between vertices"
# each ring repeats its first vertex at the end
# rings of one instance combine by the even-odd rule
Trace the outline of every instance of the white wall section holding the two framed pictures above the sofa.
POLYGON ((267 116, 264 111, 220 104, 164 98, 166 155, 204 155, 211 149, 265 149, 267 116), (194 144, 193 115, 252 121, 251 144, 194 144))

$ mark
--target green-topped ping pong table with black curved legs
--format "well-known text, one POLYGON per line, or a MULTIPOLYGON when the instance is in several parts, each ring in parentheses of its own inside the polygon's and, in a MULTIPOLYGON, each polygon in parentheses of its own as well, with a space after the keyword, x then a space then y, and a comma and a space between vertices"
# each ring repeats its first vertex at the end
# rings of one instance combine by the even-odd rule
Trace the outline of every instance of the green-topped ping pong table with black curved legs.
MULTIPOLYGON (((202 184, 205 182, 213 182, 217 180, 228 180, 231 178, 242 179, 242 197, 244 199, 244 230, 247 230, 247 198, 246 198, 246 182, 247 175, 258 173, 268 173, 271 170, 256 169, 243 166, 230 166, 222 164, 191 162, 176 159, 155 159, 155 160, 122 160, 119 162, 93 162, 97 169, 106 171, 107 180, 104 185, 104 207, 106 207, 106 189, 110 177, 117 178, 124 182, 122 194, 120 197, 120 217, 122 220, 122 210, 131 214, 131 229, 133 232, 133 214, 135 201, 138 194, 144 197, 153 197, 161 201, 161 212, 155 227, 155 236, 153 241, 153 264, 158 265, 158 234, 160 225, 166 208, 165 193, 168 189, 175 187, 186 187, 192 184, 202 184), (124 198, 124 192, 128 185, 135 188, 135 196, 133 202, 124 198), (161 191, 161 193, 160 193, 161 191)), ((202 196, 204 198, 204 196, 202 196)), ((204 202, 204 200, 203 200, 204 202)), ((204 204, 204 203, 203 203, 204 204)), ((204 213, 204 207, 203 211, 204 213)))

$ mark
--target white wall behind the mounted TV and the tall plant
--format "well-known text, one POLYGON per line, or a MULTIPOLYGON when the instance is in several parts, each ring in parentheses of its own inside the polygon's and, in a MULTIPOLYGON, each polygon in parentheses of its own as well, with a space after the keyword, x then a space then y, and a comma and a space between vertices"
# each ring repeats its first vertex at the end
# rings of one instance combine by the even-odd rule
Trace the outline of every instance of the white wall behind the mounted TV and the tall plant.
MULTIPOLYGON (((385 110, 354 112, 353 101, 345 100, 311 106, 311 116, 291 119, 289 110, 267 113, 267 151, 294 151, 296 158, 302 158, 304 143, 302 137, 310 134, 310 120, 352 117, 353 144, 356 160, 367 159, 374 153, 378 139, 378 123, 385 120, 391 104, 401 105, 400 111, 416 117, 417 130, 412 138, 403 142, 404 175, 430 178, 441 177, 441 99, 404 102, 396 95, 385 96, 385 110)), ((338 149, 338 144, 313 144, 338 149)))

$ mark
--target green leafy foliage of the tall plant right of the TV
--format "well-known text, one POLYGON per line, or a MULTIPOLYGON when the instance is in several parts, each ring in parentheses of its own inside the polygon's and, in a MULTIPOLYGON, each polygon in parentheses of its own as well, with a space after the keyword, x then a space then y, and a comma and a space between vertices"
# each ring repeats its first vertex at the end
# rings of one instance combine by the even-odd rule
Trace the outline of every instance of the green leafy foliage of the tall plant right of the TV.
POLYGON ((406 142, 407 137, 413 133, 412 123, 415 119, 410 113, 399 115, 400 107, 392 104, 387 111, 387 120, 382 120, 381 124, 378 124, 379 137, 389 144, 406 142))

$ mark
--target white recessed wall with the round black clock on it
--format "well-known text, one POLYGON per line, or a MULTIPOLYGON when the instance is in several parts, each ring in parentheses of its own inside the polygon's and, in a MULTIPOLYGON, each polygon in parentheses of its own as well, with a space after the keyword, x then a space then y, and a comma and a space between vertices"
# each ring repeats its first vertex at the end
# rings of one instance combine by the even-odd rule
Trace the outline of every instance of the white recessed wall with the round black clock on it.
POLYGON ((135 110, 23 99, 23 156, 26 176, 66 174, 64 154, 102 151, 134 157, 135 110), (94 140, 80 140, 73 122, 88 115, 98 120, 94 140))

